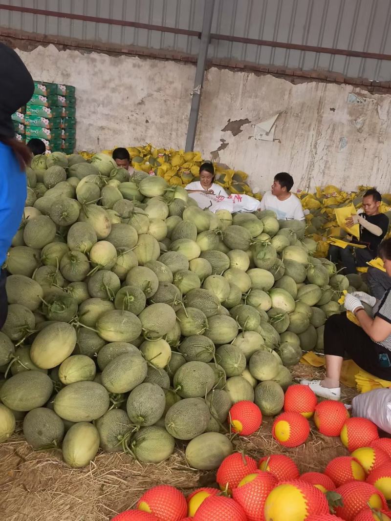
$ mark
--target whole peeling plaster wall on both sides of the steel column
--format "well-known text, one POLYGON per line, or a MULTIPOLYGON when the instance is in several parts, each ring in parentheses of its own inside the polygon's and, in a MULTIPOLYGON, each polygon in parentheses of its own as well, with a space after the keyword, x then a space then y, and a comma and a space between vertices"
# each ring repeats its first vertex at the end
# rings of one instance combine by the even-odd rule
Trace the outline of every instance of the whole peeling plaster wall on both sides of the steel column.
MULTIPOLYGON (((194 66, 173 61, 58 51, 18 51, 35 79, 77 88, 77 147, 139 145, 182 148, 194 66)), ((359 184, 391 191, 391 95, 346 84, 292 84, 273 76, 212 68, 206 72, 196 149, 244 170, 268 189, 288 171, 296 189, 359 184), (254 125, 279 114, 273 141, 254 125)))

